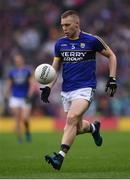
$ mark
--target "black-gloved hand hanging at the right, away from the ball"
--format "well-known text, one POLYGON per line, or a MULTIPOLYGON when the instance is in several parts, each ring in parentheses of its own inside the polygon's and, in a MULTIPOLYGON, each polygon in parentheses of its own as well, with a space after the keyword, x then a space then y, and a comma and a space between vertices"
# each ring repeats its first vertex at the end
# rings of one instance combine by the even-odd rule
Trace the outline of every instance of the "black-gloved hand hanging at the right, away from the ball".
POLYGON ((114 77, 109 77, 105 91, 109 94, 110 97, 113 97, 114 94, 116 93, 116 89, 117 89, 116 79, 114 77))

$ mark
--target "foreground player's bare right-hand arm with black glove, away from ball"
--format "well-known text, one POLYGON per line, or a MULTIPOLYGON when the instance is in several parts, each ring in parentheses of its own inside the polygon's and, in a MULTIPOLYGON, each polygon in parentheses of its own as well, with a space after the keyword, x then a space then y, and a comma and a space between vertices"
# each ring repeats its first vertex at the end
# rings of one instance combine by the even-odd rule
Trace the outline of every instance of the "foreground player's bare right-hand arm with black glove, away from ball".
POLYGON ((107 46, 100 52, 103 56, 108 58, 109 64, 109 79, 106 84, 105 91, 109 94, 110 97, 113 97, 116 93, 117 84, 116 84, 116 69, 117 69, 117 58, 114 52, 107 46))

